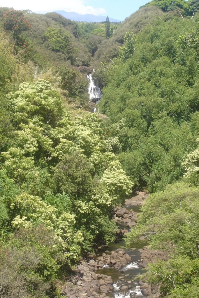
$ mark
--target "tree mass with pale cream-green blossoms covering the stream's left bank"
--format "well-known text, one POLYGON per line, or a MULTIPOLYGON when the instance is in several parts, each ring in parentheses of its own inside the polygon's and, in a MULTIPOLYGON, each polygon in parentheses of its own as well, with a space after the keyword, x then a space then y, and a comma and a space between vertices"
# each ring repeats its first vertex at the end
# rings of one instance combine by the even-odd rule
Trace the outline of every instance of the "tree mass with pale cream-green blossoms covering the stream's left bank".
POLYGON ((55 278, 115 239, 111 210, 132 182, 102 121, 72 116, 46 80, 8 93, 6 110, 14 139, 1 149, 1 297, 14 288, 15 297, 58 297, 55 278))

